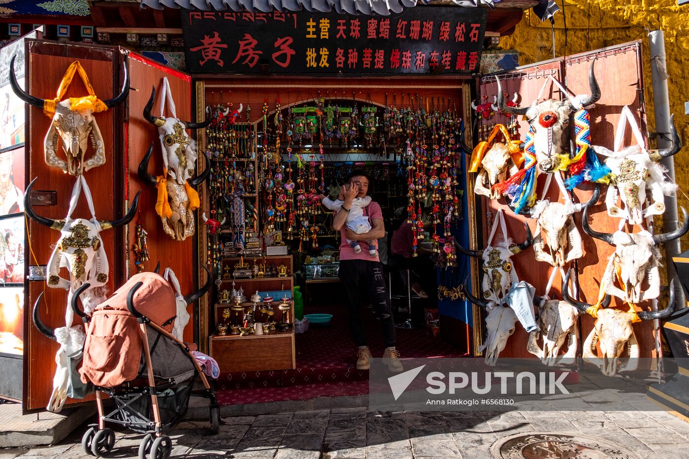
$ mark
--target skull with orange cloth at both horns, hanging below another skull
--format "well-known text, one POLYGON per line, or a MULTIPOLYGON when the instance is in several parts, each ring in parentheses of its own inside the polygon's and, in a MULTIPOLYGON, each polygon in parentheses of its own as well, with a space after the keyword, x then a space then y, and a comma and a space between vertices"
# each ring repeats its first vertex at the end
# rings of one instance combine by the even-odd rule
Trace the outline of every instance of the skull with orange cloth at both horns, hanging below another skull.
POLYGON ((161 216, 163 230, 176 241, 184 241, 188 236, 194 234, 194 210, 198 207, 198 194, 194 187, 197 187, 211 172, 210 160, 204 155, 206 160, 205 170, 195 179, 189 179, 180 184, 177 181, 167 180, 165 176, 153 176, 148 172, 148 163, 153 152, 153 143, 148 147, 148 151, 138 165, 138 177, 143 183, 148 183, 158 188, 158 203, 162 207, 156 212, 161 216), (195 197, 195 202, 190 198, 190 194, 195 197))

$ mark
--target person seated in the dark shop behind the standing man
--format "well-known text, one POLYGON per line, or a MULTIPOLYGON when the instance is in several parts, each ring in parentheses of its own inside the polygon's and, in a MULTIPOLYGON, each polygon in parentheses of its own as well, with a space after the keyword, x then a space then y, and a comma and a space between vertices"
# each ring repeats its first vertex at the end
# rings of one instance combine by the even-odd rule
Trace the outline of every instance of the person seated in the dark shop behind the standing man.
MULTIPOLYGON (((431 230, 432 219, 429 218, 428 207, 423 210, 424 232, 431 230)), ((435 298, 438 288, 435 279, 435 263, 433 263, 433 248, 431 243, 417 241, 416 256, 414 256, 414 233, 412 224, 407 218, 407 207, 399 207, 392 218, 392 236, 390 237, 390 266, 393 269, 409 269, 411 291, 419 298, 435 298)), ((407 281, 406 276, 404 281, 407 281)))

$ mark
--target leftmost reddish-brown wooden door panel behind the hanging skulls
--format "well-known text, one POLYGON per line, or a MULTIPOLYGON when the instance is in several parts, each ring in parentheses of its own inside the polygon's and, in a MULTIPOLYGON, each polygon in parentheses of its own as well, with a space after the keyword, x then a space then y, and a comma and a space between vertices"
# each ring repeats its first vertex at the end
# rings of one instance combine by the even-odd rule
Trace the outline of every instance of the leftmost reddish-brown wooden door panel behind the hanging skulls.
MULTIPOLYGON (((41 99, 53 99, 58 85, 70 63, 78 60, 90 78, 94 91, 100 99, 110 99, 118 92, 121 81, 120 52, 112 46, 96 45, 63 45, 45 41, 28 41, 26 52, 28 92, 41 99), (115 88, 115 89, 114 89, 115 88)), ((72 79, 65 97, 85 96, 88 94, 79 76, 72 79)), ((115 121, 122 110, 117 108, 94 114, 103 135, 106 162, 85 172, 85 178, 94 197, 96 217, 101 220, 112 220, 123 215, 123 202, 116 199, 116 186, 113 179, 117 174, 120 161, 119 142, 116 140, 115 121)), ((27 106, 27 164, 26 183, 37 178, 34 190, 56 192, 56 205, 36 206, 34 210, 45 217, 65 218, 68 212, 70 195, 75 182, 74 176, 63 173, 56 167, 46 165, 43 155, 43 138, 48 132, 52 117, 45 116, 40 108, 27 106)), ((59 152, 59 155, 62 152, 59 152)), ((88 153, 92 154, 89 147, 88 153)), ((91 218, 90 211, 83 196, 72 217, 91 218)), ((60 234, 51 228, 28 221, 27 250, 25 260, 30 265, 46 265, 54 244, 60 234)), ((121 264, 116 256, 116 230, 101 232, 105 253, 110 261, 110 276, 107 288, 110 292, 116 285, 116 276, 121 264)), ((68 276, 63 269, 63 276, 68 276)), ((56 368, 54 356, 59 345, 41 335, 32 325, 31 310, 39 294, 45 292, 39 305, 43 322, 51 328, 65 326, 65 307, 67 292, 63 289, 49 288, 45 281, 28 283, 24 307, 24 391, 23 407, 25 410, 43 409, 47 405, 52 391, 52 378, 56 368)), ((74 324, 77 322, 75 321, 74 324)), ((68 403, 81 400, 68 400, 68 403)))

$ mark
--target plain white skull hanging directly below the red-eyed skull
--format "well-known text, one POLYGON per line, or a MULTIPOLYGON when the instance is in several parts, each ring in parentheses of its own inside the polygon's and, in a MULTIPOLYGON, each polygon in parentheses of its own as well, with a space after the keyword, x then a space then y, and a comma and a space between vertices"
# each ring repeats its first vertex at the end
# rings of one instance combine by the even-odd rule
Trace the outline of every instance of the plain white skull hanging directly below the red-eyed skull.
MULTIPOLYGON (((597 185, 588 207, 598 201, 600 185, 597 185)), ((565 263, 584 256, 582 235, 574 223, 576 206, 568 198, 565 203, 538 201, 531 209, 531 216, 537 218, 533 252, 538 261, 551 266, 564 266, 565 263)))

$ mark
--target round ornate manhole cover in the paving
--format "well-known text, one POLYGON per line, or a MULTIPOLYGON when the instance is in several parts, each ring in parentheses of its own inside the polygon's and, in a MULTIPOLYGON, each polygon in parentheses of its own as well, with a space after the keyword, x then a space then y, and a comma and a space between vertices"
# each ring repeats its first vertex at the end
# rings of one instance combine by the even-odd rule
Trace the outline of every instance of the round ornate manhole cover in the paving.
POLYGON ((636 459, 635 453, 600 438, 564 433, 520 433, 491 447, 497 459, 636 459))

